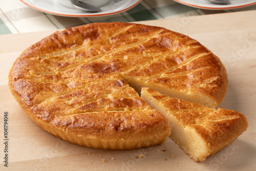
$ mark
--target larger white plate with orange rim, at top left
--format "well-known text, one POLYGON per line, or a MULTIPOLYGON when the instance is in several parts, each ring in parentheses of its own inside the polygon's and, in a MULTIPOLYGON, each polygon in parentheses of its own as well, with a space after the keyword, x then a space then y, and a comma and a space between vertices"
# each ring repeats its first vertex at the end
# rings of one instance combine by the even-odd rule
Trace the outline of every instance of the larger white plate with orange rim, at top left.
POLYGON ((124 12, 135 7, 142 0, 110 0, 110 2, 101 8, 101 12, 84 12, 75 8, 69 8, 63 6, 58 0, 20 0, 24 4, 36 10, 61 16, 72 17, 92 17, 92 16, 104 16, 113 15, 120 12, 124 12), (117 2, 117 3, 115 3, 117 2))

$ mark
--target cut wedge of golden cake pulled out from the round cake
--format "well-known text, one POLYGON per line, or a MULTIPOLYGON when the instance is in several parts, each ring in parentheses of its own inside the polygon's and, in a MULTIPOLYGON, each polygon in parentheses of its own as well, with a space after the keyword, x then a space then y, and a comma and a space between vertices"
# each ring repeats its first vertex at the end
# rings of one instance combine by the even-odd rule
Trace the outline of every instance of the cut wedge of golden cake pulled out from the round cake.
POLYGON ((150 88, 142 88, 141 97, 168 119, 172 127, 169 137, 195 161, 221 151, 248 127, 245 116, 236 111, 206 108, 150 88))

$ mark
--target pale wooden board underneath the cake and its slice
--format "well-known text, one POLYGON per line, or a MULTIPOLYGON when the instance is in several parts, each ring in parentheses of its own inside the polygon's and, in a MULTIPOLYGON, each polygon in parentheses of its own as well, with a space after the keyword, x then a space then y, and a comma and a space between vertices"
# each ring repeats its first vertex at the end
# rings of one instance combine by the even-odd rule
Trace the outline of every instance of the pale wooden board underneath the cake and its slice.
POLYGON ((45 132, 19 108, 9 91, 8 73, 23 50, 54 31, 1 35, 0 170, 255 170, 255 17, 256 11, 246 11, 138 22, 195 38, 218 55, 227 69, 229 87, 220 107, 244 114, 249 127, 221 152, 198 163, 169 138, 161 145, 113 151, 74 145, 45 132), (4 166, 6 154, 8 167, 4 166), (138 158, 139 154, 146 158, 138 158))

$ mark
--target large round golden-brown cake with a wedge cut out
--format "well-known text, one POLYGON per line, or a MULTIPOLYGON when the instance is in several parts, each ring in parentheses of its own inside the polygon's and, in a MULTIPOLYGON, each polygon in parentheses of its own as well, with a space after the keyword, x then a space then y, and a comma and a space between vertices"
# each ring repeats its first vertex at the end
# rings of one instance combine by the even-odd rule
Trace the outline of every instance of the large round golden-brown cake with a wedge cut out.
POLYGON ((227 85, 220 59, 198 41, 128 23, 57 31, 20 54, 9 73, 13 96, 42 129, 103 149, 151 146, 170 135, 141 88, 216 108, 227 85))

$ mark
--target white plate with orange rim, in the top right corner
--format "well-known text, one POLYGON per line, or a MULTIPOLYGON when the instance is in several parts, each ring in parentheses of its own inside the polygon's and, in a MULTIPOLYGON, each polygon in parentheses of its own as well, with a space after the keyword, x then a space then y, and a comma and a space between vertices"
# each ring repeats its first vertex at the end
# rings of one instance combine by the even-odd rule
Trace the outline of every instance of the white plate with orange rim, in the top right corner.
POLYGON ((177 3, 184 4, 190 7, 209 9, 209 10, 226 10, 247 7, 256 4, 255 0, 230 0, 229 5, 211 4, 208 0, 174 0, 177 3))

